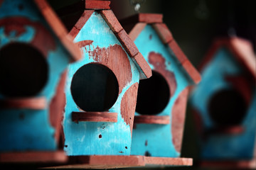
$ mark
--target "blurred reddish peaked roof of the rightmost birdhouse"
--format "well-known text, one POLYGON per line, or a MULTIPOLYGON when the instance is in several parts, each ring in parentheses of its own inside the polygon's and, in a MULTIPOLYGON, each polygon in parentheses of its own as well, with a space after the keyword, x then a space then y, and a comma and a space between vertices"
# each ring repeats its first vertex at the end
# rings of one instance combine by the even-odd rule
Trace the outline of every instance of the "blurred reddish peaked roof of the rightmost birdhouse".
POLYGON ((256 78, 256 56, 253 51, 252 44, 245 39, 237 37, 215 38, 215 40, 213 40, 213 44, 208 50, 208 53, 206 54, 206 57, 199 66, 199 70, 202 70, 203 67, 210 62, 214 57, 215 52, 217 52, 221 47, 228 48, 236 60, 238 60, 238 62, 240 62, 240 64, 242 64, 242 66, 256 78))

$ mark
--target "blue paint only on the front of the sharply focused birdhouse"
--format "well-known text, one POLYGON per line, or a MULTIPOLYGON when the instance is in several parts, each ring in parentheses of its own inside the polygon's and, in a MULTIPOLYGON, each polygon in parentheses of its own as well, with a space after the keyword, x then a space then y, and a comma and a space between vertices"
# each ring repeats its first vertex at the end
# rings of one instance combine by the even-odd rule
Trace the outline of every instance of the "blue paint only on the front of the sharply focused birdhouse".
MULTIPOLYGON (((139 70, 126 53, 132 70, 132 81, 128 82, 124 89, 122 89, 122 93, 119 94, 116 103, 109 110, 118 114, 117 123, 73 122, 71 113, 79 111, 79 109, 70 93, 71 80, 80 67, 95 62, 95 59, 90 57, 88 51, 92 51, 96 47, 122 46, 114 33, 112 33, 110 27, 107 26, 105 20, 97 12, 92 13, 92 16, 90 16, 85 26, 82 27, 80 33, 74 39, 75 42, 82 40, 92 40, 93 42, 91 45, 82 47, 83 59, 70 64, 68 67, 68 80, 66 81, 65 88, 66 106, 63 120, 64 150, 68 155, 129 155, 132 135, 129 125, 122 118, 120 105, 127 89, 132 84, 139 82, 139 70), (99 135, 102 135, 102 137, 100 138, 99 135)), ((117 64, 121 63, 117 62, 117 64)))

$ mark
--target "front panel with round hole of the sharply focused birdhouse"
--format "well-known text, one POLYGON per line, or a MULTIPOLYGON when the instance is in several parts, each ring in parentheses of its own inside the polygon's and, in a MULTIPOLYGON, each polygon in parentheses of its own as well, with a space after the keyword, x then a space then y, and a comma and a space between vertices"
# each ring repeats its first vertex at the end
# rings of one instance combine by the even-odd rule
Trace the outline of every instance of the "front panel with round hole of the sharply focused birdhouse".
POLYGON ((63 119, 64 149, 70 156, 129 155, 139 69, 110 29, 94 11, 75 36, 83 52, 68 67, 63 119), (117 113, 115 122, 73 120, 73 113, 117 113))

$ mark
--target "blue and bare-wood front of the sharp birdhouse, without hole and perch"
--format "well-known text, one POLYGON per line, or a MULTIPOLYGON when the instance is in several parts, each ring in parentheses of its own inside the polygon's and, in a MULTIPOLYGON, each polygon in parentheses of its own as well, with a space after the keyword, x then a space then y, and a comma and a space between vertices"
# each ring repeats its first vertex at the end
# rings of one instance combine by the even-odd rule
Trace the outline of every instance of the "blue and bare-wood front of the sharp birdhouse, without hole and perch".
MULTIPOLYGON (((137 95, 139 71, 100 13, 92 13, 74 41, 82 49, 83 58, 68 67, 68 80, 65 88, 66 106, 63 119, 65 152, 73 156, 129 155, 132 142, 130 118, 133 120, 134 111, 132 110, 135 109, 136 104, 135 95, 137 95), (117 123, 82 121, 76 123, 72 120, 72 112, 85 111, 75 103, 70 86, 72 86, 75 72, 88 64, 103 65, 110 69, 117 78, 119 86, 117 101, 107 110, 110 113, 117 113, 117 123), (135 94, 134 91, 136 91, 135 94), (132 98, 127 100, 127 97, 132 98), (122 108, 127 109, 122 111, 122 108)), ((93 73, 88 72, 87 74, 93 73)), ((95 84, 95 86, 102 85, 95 84)), ((99 96, 94 97, 100 98, 100 96, 99 94, 99 96)), ((87 113, 85 112, 85 114, 87 113)))

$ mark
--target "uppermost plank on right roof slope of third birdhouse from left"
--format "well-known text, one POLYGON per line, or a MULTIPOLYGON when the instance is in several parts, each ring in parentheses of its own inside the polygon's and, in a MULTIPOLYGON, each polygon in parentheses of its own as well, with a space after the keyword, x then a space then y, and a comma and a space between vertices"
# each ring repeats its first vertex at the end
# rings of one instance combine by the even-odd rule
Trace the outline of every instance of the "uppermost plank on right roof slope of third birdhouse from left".
POLYGON ((164 44, 167 44, 174 39, 171 34, 171 31, 169 30, 165 23, 155 23, 152 26, 156 30, 156 33, 159 35, 161 41, 164 44))

